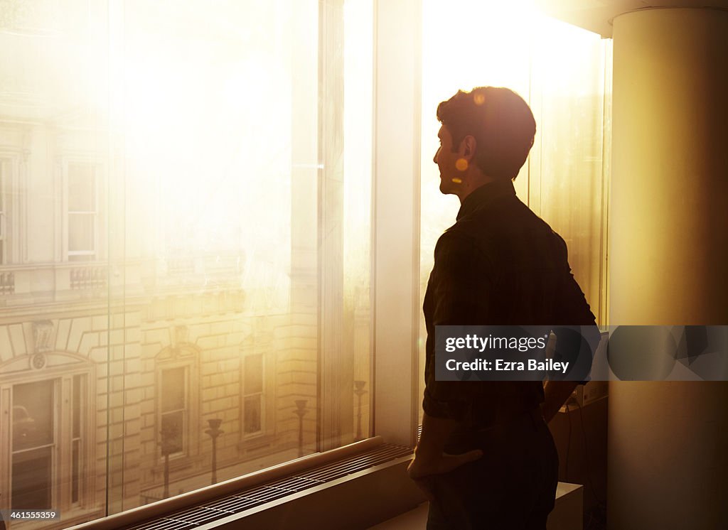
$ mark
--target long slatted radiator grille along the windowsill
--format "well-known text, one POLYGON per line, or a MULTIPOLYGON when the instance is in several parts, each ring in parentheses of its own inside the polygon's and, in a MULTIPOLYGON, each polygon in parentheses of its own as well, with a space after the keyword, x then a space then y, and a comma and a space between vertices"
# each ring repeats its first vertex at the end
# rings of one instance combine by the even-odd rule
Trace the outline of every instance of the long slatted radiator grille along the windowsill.
POLYGON ((281 499, 297 491, 331 482, 337 478, 365 470, 368 467, 406 457, 409 454, 412 454, 412 449, 385 443, 374 449, 341 459, 338 462, 312 467, 293 476, 279 478, 221 499, 205 502, 205 504, 197 507, 186 508, 152 521, 124 528, 127 530, 194 529, 216 519, 250 510, 250 508, 281 499))

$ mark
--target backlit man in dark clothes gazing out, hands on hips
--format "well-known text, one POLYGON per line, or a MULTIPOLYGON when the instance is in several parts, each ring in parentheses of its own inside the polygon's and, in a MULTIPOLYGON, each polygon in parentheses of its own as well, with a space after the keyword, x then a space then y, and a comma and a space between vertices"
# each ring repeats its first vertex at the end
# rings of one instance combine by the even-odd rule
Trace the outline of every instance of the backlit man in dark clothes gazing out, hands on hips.
POLYGON ((479 87, 437 116, 440 191, 461 206, 424 298, 424 419, 408 471, 430 499, 428 529, 545 529, 558 482, 546 423, 578 383, 437 381, 435 326, 593 326, 590 344, 598 329, 563 239, 515 196, 536 133, 529 105, 479 87))

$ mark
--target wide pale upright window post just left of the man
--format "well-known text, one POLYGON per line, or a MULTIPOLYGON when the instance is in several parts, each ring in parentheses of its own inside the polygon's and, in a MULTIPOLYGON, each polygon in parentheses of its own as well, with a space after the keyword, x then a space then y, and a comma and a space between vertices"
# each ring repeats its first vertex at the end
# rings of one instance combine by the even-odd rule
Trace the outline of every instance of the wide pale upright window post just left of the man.
POLYGON ((381 435, 387 443, 414 447, 422 310, 422 2, 375 2, 374 36, 373 435, 381 435), (411 87, 412 97, 402 97, 403 87, 411 87))

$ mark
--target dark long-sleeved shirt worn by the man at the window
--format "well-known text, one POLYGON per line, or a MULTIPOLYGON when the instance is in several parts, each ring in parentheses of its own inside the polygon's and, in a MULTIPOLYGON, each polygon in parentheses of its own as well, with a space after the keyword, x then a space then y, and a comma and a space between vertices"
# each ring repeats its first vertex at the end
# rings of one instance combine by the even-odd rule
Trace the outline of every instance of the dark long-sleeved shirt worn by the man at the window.
POLYGON ((566 243, 516 197, 510 180, 489 182, 465 198, 435 246, 423 310, 424 411, 470 427, 533 409, 544 401, 542 382, 436 381, 435 326, 596 326, 566 243))

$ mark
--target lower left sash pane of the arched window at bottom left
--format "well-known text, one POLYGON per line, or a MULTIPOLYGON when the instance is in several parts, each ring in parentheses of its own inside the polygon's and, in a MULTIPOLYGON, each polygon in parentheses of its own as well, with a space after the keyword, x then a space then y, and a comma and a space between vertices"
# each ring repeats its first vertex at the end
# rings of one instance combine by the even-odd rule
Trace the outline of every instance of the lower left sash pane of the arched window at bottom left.
POLYGON ((52 449, 23 451, 12 457, 12 510, 50 510, 52 449))

